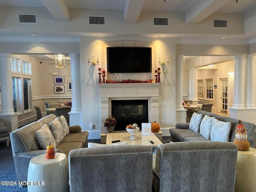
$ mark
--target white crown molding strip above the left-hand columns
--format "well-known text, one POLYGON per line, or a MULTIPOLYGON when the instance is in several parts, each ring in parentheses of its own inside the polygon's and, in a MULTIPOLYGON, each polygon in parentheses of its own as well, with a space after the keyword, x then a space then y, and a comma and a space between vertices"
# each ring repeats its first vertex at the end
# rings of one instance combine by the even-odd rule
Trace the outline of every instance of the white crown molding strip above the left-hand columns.
POLYGON ((79 37, 0 37, 0 42, 79 42, 79 37))

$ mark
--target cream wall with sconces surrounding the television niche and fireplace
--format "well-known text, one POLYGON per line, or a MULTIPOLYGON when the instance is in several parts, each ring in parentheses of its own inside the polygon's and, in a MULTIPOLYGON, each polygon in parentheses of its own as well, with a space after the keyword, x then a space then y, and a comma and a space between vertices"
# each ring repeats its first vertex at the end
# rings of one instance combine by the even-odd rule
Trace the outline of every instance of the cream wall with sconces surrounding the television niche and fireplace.
MULTIPOLYGON (((102 58, 99 58, 98 66, 87 64, 88 55, 90 57, 101 55, 102 42, 118 40, 136 40, 156 43, 157 57, 169 57, 168 66, 160 66, 155 61, 152 66, 161 67, 162 90, 160 96, 159 119, 164 120, 165 124, 161 128, 174 127, 175 125, 175 39, 157 40, 154 38, 80 38, 80 71, 81 71, 81 94, 82 94, 82 129, 90 130, 90 122, 93 122, 100 138, 100 88, 98 83, 98 68, 102 68, 102 58)), ((104 63, 106 65, 106 63, 104 63)), ((92 133, 93 134, 93 133, 92 133)), ((90 134, 89 134, 90 136, 90 134)))

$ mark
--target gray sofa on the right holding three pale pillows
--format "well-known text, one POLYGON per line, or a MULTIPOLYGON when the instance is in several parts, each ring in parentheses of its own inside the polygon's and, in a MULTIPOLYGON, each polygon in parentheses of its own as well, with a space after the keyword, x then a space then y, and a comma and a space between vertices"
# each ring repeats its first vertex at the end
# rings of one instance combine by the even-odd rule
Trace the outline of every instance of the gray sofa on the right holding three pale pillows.
MULTIPOLYGON (((202 114, 203 116, 208 115, 210 117, 214 117, 217 120, 223 122, 230 122, 231 123, 231 130, 230 130, 230 138, 229 142, 233 142, 235 138, 235 130, 236 126, 238 125, 238 119, 220 116, 214 113, 206 112, 206 111, 198 111, 197 114, 202 114)), ((180 141, 210 141, 210 139, 206 139, 201 136, 200 133, 193 132, 189 130, 190 123, 177 123, 175 128, 170 128, 171 140, 172 142, 180 142, 180 141)), ((255 124, 246 122, 242 120, 242 124, 246 127, 248 142, 250 146, 253 147, 254 145, 254 135, 255 135, 255 124)))

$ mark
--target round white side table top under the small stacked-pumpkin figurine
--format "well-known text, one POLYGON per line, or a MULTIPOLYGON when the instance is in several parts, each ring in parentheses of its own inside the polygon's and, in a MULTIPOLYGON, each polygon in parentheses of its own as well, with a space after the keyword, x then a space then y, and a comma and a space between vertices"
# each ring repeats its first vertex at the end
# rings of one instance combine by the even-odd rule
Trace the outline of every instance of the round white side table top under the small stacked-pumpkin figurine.
POLYGON ((55 153, 55 157, 53 159, 46 159, 46 154, 41 154, 33 157, 30 160, 30 163, 35 165, 48 165, 60 162, 65 158, 67 158, 67 156, 64 153, 55 153))

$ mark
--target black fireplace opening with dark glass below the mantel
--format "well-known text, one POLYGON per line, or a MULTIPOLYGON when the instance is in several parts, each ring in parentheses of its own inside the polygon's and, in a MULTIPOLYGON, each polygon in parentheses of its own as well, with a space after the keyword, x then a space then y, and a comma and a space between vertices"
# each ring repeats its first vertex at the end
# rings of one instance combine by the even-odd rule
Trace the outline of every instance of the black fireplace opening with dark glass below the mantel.
POLYGON ((111 114, 117 120, 114 131, 126 130, 126 126, 148 123, 148 100, 112 100, 111 114))

